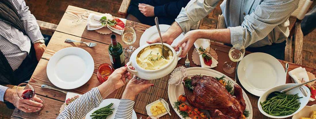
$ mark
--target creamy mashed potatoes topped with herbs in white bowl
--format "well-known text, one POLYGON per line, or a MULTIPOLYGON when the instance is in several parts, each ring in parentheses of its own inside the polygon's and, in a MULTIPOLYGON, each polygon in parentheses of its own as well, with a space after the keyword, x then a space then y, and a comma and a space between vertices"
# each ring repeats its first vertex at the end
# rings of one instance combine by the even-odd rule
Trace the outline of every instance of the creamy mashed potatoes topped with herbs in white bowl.
MULTIPOLYGON (((164 47, 164 49, 168 49, 164 47)), ((140 51, 136 57, 137 64, 146 70, 155 70, 165 66, 173 58, 173 53, 168 50, 169 57, 162 57, 161 45, 151 45, 140 51)))

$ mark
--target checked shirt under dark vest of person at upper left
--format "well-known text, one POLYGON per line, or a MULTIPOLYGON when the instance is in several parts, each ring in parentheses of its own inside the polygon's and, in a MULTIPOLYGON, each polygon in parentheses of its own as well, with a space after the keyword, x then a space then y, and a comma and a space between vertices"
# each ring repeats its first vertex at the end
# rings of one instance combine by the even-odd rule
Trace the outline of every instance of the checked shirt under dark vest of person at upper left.
POLYGON ((24 0, 11 0, 18 15, 21 18, 25 32, 11 26, 7 21, 0 19, 0 50, 8 60, 13 71, 21 65, 22 61, 28 55, 31 43, 36 40, 44 39, 40 32, 40 27, 35 17, 28 10, 24 0))

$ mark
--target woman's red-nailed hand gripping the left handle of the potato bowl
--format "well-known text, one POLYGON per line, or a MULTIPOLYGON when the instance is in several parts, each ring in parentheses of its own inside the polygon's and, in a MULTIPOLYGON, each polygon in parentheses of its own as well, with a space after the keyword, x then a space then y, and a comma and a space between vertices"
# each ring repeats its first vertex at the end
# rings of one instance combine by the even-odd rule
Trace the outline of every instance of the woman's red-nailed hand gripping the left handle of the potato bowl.
MULTIPOLYGON (((132 66, 129 67, 134 70, 132 66)), ((124 67, 115 69, 106 82, 113 85, 115 90, 124 86, 126 83, 126 79, 131 79, 131 73, 127 72, 126 70, 126 65, 124 67)))

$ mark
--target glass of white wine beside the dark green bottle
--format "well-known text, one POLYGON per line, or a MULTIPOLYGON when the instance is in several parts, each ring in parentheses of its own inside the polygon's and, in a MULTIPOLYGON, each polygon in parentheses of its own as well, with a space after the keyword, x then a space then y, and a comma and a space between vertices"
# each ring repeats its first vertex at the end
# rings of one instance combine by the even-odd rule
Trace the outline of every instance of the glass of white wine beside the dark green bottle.
POLYGON ((131 57, 132 53, 136 50, 135 47, 131 46, 136 41, 136 33, 133 27, 125 27, 122 30, 122 40, 124 44, 129 45, 124 49, 124 55, 128 58, 131 57))

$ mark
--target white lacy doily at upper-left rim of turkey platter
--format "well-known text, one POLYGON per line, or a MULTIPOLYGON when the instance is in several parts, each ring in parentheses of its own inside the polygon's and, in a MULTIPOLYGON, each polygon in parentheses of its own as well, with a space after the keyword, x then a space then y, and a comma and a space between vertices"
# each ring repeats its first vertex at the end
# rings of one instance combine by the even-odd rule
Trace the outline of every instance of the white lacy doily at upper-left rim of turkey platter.
POLYGON ((186 69, 183 66, 175 68, 170 75, 169 84, 179 85, 186 76, 185 71, 186 69))

